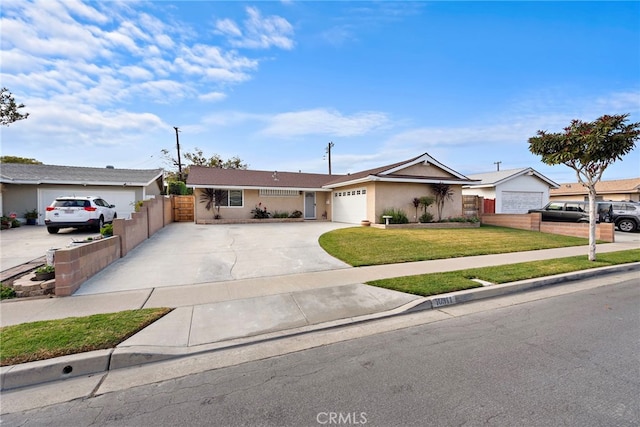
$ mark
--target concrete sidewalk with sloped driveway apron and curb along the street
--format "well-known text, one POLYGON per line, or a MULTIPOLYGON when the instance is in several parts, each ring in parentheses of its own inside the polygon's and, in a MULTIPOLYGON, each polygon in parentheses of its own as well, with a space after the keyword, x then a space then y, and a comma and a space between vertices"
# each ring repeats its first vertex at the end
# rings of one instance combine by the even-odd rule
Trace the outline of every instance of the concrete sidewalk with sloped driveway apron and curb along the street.
MULTIPOLYGON (((637 247, 635 243, 602 244, 598 245, 598 253, 637 247)), ((555 259, 585 255, 585 251, 586 247, 581 246, 67 298, 9 300, 1 304, 3 326, 148 307, 172 307, 175 310, 116 349, 3 367, 2 389, 245 345, 409 310, 532 289, 574 277, 602 274, 602 271, 616 271, 615 268, 597 269, 431 298, 364 285, 375 279, 555 259)), ((637 264, 618 269, 625 271, 636 267, 637 264)))

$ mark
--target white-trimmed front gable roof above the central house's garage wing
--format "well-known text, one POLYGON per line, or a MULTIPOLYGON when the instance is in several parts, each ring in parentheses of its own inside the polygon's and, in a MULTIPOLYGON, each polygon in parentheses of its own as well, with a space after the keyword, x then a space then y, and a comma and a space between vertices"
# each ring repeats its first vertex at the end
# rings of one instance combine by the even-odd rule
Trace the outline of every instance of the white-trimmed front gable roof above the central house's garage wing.
POLYGON ((343 187, 346 185, 353 185, 367 181, 394 181, 394 182, 419 182, 419 183, 445 183, 445 184, 468 184, 472 182, 469 178, 448 168, 429 154, 424 153, 420 156, 414 157, 402 162, 393 163, 386 166, 381 166, 374 169, 365 170, 362 172, 356 172, 350 175, 345 175, 328 182, 326 188, 343 187), (438 169, 441 169, 448 174, 452 175, 450 178, 443 178, 442 176, 415 176, 415 175, 403 175, 401 172, 403 169, 417 165, 417 164, 430 164, 438 169))

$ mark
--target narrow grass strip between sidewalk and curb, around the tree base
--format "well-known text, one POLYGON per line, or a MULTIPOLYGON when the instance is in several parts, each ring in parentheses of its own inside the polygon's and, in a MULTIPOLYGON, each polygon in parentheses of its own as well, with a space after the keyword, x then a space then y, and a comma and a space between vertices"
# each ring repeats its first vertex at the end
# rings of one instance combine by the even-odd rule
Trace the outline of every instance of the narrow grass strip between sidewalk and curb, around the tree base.
POLYGON ((510 283, 554 274, 640 262, 640 249, 598 254, 596 259, 595 262, 591 262, 586 255, 556 258, 494 267, 471 268, 446 273, 396 277, 375 280, 367 284, 421 296, 438 295, 482 286, 471 279, 481 279, 494 284, 510 283))

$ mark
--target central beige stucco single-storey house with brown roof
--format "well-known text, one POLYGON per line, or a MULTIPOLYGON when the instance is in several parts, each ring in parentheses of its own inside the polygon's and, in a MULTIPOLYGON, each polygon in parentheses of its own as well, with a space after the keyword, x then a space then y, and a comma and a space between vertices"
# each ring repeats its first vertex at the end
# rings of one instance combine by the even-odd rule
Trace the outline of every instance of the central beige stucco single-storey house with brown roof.
MULTIPOLYGON (((385 209, 405 211, 412 221, 415 197, 432 194, 430 185, 449 184, 442 217, 462 216, 462 186, 475 181, 441 164, 428 154, 348 175, 218 169, 191 166, 187 186, 194 189, 195 219, 214 218, 206 209, 206 189, 223 190, 222 219, 248 219, 257 206, 274 212, 300 211, 305 219, 358 224, 380 222, 385 209)), ((435 214, 435 207, 430 208, 435 214)))

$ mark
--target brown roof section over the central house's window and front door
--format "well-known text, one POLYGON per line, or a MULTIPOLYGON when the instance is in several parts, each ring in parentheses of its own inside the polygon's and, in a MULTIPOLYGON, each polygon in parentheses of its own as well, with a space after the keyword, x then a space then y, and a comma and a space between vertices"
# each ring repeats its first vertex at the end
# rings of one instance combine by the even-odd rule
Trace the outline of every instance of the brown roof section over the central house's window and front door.
POLYGON ((323 191, 322 186, 336 175, 258 171, 247 169, 221 169, 206 166, 189 166, 187 185, 190 187, 219 188, 280 188, 289 190, 323 191))

